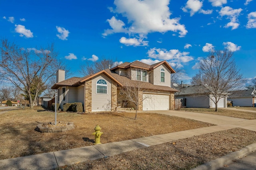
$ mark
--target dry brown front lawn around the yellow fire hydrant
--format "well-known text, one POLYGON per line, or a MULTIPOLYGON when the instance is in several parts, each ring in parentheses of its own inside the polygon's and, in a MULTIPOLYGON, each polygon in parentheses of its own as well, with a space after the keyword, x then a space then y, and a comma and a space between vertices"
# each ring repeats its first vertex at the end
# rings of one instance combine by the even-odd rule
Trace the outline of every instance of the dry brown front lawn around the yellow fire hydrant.
POLYGON ((58 112, 57 121, 74 122, 75 129, 62 133, 35 131, 38 123, 53 122, 54 115, 53 111, 45 111, 41 107, 34 110, 20 108, 0 114, 0 159, 92 145, 92 133, 97 124, 104 133, 101 137, 102 143, 211 126, 210 123, 146 112, 138 113, 137 120, 134 120, 135 113, 126 112, 58 112))

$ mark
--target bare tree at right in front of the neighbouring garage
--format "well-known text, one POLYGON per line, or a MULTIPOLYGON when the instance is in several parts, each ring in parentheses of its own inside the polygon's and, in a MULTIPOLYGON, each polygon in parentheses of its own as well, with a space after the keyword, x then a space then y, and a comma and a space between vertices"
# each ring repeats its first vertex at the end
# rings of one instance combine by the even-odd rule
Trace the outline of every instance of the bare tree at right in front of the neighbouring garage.
POLYGON ((198 74, 191 80, 191 84, 194 85, 207 85, 213 98, 208 94, 206 96, 214 102, 215 111, 218 111, 218 102, 221 98, 226 97, 230 91, 242 88, 245 83, 245 79, 236 66, 233 54, 227 49, 210 52, 208 57, 199 63, 198 74))

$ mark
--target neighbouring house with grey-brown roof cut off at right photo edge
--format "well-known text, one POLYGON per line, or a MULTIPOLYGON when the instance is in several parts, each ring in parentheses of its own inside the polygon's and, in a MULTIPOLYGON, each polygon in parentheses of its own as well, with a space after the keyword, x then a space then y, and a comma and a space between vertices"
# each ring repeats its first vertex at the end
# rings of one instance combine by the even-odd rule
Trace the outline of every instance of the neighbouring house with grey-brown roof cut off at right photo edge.
POLYGON ((256 107, 256 90, 236 90, 230 92, 228 100, 232 102, 232 106, 249 106, 256 107))

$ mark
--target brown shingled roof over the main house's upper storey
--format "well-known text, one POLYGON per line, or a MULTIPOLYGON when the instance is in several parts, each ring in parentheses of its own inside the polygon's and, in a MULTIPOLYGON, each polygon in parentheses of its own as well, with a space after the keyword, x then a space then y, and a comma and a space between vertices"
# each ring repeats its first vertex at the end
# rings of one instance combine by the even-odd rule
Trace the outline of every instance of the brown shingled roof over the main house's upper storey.
POLYGON ((149 64, 146 64, 146 63, 142 63, 140 61, 134 61, 132 63, 125 62, 125 63, 122 63, 122 64, 120 64, 118 66, 115 66, 114 68, 111 68, 110 70, 116 70, 118 68, 128 69, 130 67, 141 68, 141 69, 145 69, 145 70, 153 70, 154 68, 160 66, 161 64, 165 64, 169 68, 171 73, 175 73, 175 70, 170 66, 170 64, 168 64, 167 61, 160 61, 160 62, 158 62, 156 64, 152 64, 152 65, 149 65, 149 64))

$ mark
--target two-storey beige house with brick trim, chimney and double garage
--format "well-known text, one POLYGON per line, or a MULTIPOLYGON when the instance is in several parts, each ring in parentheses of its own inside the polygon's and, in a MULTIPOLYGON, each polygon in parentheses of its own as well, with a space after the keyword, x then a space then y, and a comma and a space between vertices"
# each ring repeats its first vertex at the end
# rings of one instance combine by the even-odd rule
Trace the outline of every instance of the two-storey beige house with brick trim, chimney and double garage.
POLYGON ((171 74, 175 71, 166 62, 148 65, 140 61, 122 63, 114 68, 102 70, 82 78, 65 80, 65 71, 58 70, 57 82, 52 89, 58 90, 58 103, 81 102, 85 112, 110 111, 118 107, 135 107, 120 92, 127 82, 144 82, 138 110, 174 109, 174 92, 171 88, 171 74), (142 101, 145 96, 150 96, 142 101))

